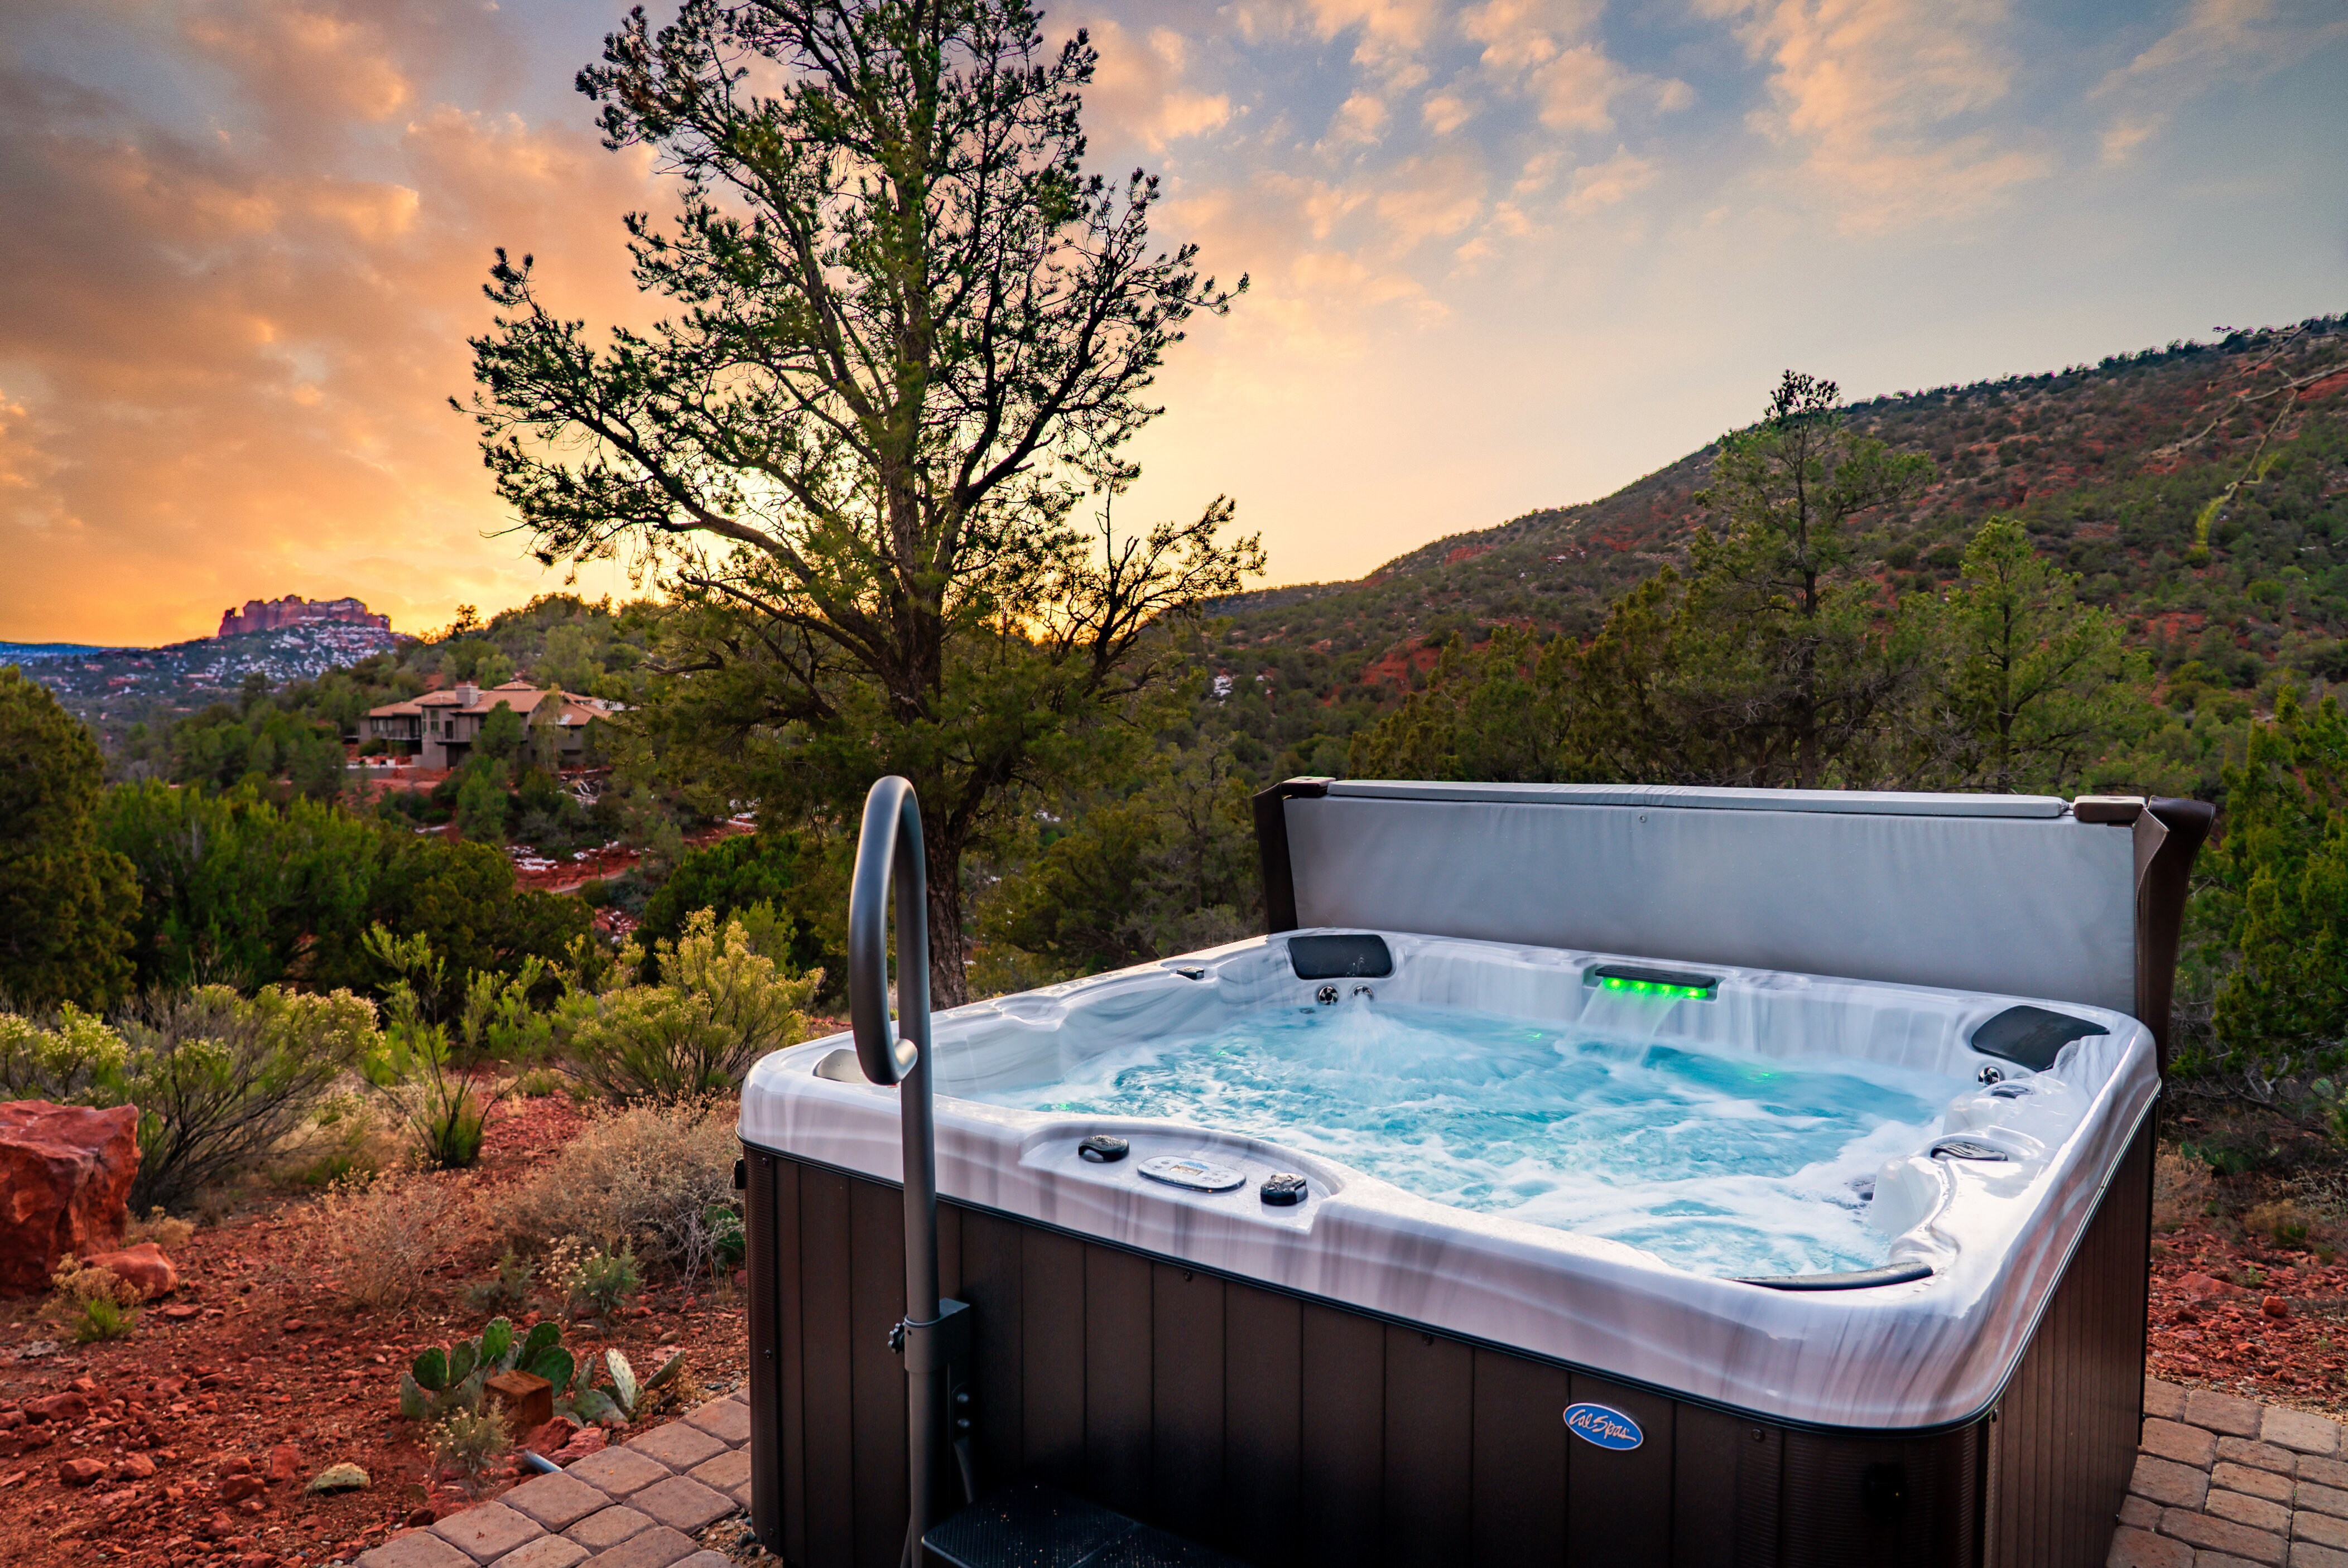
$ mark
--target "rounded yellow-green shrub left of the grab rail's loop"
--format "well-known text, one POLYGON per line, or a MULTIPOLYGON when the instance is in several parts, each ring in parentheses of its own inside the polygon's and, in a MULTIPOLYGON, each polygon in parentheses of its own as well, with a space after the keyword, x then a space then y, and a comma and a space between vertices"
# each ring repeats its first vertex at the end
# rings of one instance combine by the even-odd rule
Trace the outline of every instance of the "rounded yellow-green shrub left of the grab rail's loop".
POLYGON ((618 1101, 735 1089, 749 1066, 808 1033, 801 1012, 822 972, 791 976, 754 951, 740 920, 723 930, 707 908, 657 948, 660 984, 632 986, 641 951, 620 951, 601 991, 564 1000, 573 1073, 618 1101))

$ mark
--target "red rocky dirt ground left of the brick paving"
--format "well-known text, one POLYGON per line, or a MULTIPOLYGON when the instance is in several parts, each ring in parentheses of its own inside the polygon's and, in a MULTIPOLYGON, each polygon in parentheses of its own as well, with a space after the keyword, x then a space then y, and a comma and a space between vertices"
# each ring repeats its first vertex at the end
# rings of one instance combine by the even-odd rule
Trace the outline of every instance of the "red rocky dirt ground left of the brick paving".
MULTIPOLYGON (((493 1192, 514 1181, 578 1124, 561 1096, 507 1101, 477 1185, 493 1192)), ((85 1418, 0 1430, 0 1563, 294 1568, 357 1556, 427 1507, 427 1458, 397 1411, 399 1371, 425 1345, 481 1329, 486 1314, 463 1305, 463 1286, 491 1272, 493 1251, 477 1230, 451 1237, 423 1300, 345 1312, 312 1284, 312 1211, 305 1195, 275 1192, 200 1230, 174 1253, 185 1284, 164 1303, 197 1314, 171 1322, 148 1307, 127 1340, 73 1345, 45 1303, 0 1305, 0 1425, 28 1399, 89 1383, 85 1418), (38 1340, 59 1343, 56 1354, 28 1357, 38 1340), (294 1479, 223 1502, 223 1465, 244 1458, 268 1476, 279 1446, 296 1451, 294 1479), (66 1486, 61 1465, 77 1458, 108 1474, 66 1486), (340 1460, 373 1486, 338 1498, 301 1491, 340 1460), (136 1474, 148 1462, 153 1474, 136 1474)), ((618 1345, 643 1371, 664 1359, 662 1347, 686 1347, 693 1376, 718 1392, 742 1378, 744 1333, 733 1289, 686 1296, 667 1286, 648 1289, 601 1331, 566 1331, 564 1343, 582 1366, 618 1345)))

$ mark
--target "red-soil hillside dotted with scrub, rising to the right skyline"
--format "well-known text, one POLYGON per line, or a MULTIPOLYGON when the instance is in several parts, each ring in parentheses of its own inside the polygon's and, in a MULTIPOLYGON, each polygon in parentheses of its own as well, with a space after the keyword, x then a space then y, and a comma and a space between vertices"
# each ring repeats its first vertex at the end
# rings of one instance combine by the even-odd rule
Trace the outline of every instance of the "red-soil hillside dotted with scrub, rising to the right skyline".
MULTIPOLYGON (((2348 317, 1881 397, 1848 420, 1939 467, 1909 514, 1860 540, 1888 589, 1956 575, 1982 519, 2012 514, 2163 671, 2200 660, 2242 690, 2275 671, 2348 674, 2348 317), (2252 469, 2263 477, 2209 519, 2198 561, 2198 514, 2252 469)), ((1449 636, 1482 641, 1498 622, 1587 636, 1615 596, 1681 561, 1709 467, 1707 444, 1604 500, 1439 538, 1359 582, 1221 601, 1207 657, 1223 723, 1263 749, 1249 761, 1266 772, 1334 772, 1343 737, 1449 636)))

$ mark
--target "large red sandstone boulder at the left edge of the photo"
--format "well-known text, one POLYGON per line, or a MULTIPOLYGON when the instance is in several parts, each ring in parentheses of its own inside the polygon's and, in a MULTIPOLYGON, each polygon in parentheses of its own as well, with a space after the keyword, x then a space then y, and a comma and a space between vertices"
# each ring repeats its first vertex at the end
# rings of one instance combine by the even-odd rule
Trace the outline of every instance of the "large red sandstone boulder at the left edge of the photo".
POLYGON ((56 1261, 122 1244, 139 1110, 0 1106, 0 1291, 47 1291, 56 1261))

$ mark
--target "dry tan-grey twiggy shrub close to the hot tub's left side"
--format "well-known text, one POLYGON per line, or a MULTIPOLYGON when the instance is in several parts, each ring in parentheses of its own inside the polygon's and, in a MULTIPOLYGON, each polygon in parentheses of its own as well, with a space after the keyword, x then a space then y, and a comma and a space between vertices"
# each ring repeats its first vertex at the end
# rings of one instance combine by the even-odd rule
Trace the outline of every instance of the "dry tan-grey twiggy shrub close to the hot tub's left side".
POLYGON ((728 1101, 596 1115, 561 1155, 514 1185, 505 1199, 507 1232, 524 1249, 566 1237, 606 1253, 634 1246, 646 1263, 697 1277, 721 1246, 709 1211, 733 1218, 737 1153, 728 1101))

